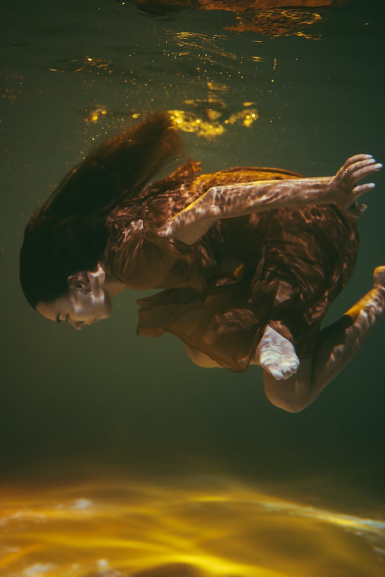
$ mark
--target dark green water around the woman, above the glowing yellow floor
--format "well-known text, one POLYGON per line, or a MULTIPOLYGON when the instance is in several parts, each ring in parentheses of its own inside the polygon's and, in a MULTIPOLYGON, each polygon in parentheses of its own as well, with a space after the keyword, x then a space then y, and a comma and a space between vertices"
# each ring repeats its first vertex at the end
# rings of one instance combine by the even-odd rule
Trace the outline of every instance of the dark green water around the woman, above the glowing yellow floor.
MULTIPOLYGON (((223 474, 384 516, 385 325, 315 403, 286 414, 264 397, 259 368, 199 369, 177 339, 137 337, 140 294, 119 295, 110 319, 76 332, 40 317, 18 284, 28 216, 133 114, 184 110, 207 120, 204 110, 219 108, 218 137, 183 133, 204 171, 259 165, 330 175, 358 152, 384 162, 380 5, 318 9, 314 24, 276 38, 227 29, 237 20, 224 11, 155 17, 113 0, 2 6, 4 483, 116 469, 150 479, 223 474), (87 122, 99 105, 106 114, 87 122), (249 128, 247 113, 224 123, 245 108, 258 115, 249 128)), ((383 175, 376 183, 360 220, 356 272, 328 320, 369 290, 373 268, 385 264, 383 175)))

